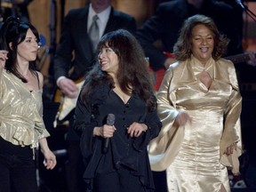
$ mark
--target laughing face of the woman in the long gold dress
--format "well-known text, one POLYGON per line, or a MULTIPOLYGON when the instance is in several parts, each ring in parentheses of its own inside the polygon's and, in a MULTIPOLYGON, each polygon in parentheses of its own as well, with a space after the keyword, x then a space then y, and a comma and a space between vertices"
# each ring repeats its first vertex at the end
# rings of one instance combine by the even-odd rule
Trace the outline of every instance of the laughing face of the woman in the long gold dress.
POLYGON ((192 30, 192 53, 203 64, 212 57, 214 39, 212 31, 204 25, 197 25, 192 30))

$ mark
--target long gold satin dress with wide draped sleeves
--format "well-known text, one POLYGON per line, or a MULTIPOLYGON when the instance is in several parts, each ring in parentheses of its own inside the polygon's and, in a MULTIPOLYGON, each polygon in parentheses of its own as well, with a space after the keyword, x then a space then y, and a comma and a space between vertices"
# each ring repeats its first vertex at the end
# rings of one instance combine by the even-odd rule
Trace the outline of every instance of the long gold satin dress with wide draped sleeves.
POLYGON ((226 167, 239 172, 242 148, 242 97, 233 63, 211 59, 203 66, 193 56, 177 62, 166 71, 156 97, 163 127, 149 143, 152 170, 166 170, 169 191, 219 192, 221 184, 229 191, 226 167), (203 71, 212 77, 209 89, 196 77, 203 71), (191 124, 174 124, 180 110, 191 124), (234 142, 233 155, 223 155, 234 142))

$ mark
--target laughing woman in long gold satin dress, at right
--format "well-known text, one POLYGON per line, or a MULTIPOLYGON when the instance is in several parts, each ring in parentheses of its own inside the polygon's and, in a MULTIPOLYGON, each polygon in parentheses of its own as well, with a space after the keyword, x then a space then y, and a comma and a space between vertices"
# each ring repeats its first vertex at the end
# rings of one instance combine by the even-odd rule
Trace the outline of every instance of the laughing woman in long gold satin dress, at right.
POLYGON ((242 97, 234 64, 220 58, 227 45, 204 15, 180 30, 178 61, 156 93, 163 128, 148 148, 152 170, 166 170, 169 192, 228 192, 228 168, 239 173, 242 97))

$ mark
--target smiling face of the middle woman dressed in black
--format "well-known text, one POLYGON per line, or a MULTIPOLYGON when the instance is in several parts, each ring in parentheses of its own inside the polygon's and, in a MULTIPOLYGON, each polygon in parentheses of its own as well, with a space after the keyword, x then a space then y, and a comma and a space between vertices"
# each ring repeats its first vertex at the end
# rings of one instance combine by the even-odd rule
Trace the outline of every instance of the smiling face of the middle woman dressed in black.
POLYGON ((108 46, 103 47, 98 56, 98 60, 102 71, 106 71, 110 76, 116 76, 119 66, 116 52, 108 46))

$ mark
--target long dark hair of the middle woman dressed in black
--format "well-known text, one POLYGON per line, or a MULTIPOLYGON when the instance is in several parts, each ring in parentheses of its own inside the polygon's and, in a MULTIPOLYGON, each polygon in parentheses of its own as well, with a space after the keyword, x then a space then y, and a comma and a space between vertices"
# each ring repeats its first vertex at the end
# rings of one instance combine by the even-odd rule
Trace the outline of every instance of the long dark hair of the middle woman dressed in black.
MULTIPOLYGON (((105 47, 110 47, 118 57, 116 79, 121 90, 126 94, 131 94, 132 90, 138 92, 147 103, 149 110, 156 108, 156 97, 148 76, 147 60, 137 39, 127 30, 118 29, 102 36, 98 44, 98 52, 100 53, 105 47)), ((108 82, 110 88, 115 86, 112 77, 101 71, 99 62, 96 62, 86 80, 89 84, 86 84, 82 91, 84 102, 95 86, 104 82, 108 82)))

